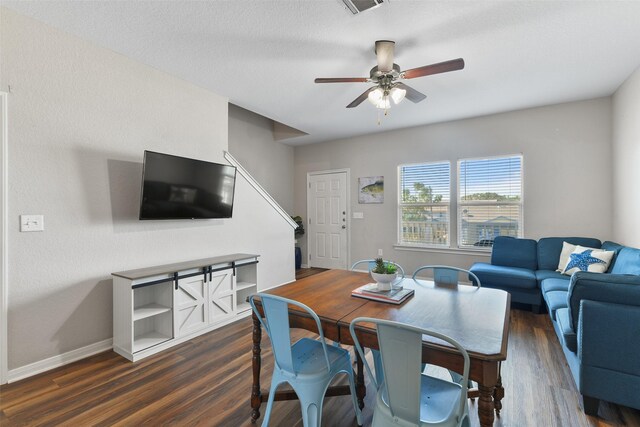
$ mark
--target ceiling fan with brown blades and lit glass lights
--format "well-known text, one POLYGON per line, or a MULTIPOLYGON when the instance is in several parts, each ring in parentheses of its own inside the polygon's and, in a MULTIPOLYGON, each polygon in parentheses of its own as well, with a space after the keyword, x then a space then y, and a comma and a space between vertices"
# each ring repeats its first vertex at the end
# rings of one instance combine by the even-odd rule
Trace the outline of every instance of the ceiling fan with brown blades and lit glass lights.
POLYGON ((367 89, 362 95, 347 105, 353 108, 368 99, 377 108, 388 110, 391 107, 389 98, 395 104, 400 103, 405 97, 414 103, 420 102, 427 96, 417 90, 407 86, 400 80, 415 79, 432 74, 446 73, 449 71, 461 70, 464 68, 462 58, 451 61, 439 62, 437 64, 425 65, 424 67, 412 68, 400 71, 400 66, 393 62, 393 51, 396 43, 390 40, 376 41, 375 53, 378 58, 378 65, 370 71, 369 77, 336 77, 318 78, 316 83, 374 83, 375 85, 367 89))

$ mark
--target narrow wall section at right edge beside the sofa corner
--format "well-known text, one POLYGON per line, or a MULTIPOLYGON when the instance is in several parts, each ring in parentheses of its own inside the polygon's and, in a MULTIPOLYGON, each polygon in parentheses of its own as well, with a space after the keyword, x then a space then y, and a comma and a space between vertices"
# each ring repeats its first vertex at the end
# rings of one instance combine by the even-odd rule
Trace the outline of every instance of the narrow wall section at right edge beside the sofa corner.
POLYGON ((640 248, 640 68, 613 96, 613 238, 640 248))

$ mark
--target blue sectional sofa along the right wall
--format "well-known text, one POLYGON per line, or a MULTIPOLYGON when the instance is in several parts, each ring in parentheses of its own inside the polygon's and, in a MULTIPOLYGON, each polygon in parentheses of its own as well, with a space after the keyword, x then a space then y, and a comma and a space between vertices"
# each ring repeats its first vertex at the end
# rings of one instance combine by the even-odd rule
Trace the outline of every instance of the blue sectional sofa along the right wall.
POLYGON ((498 237, 491 264, 470 269, 512 301, 546 303, 585 413, 599 400, 640 409, 640 249, 597 239, 498 237), (555 271, 562 242, 615 251, 607 273, 555 271))

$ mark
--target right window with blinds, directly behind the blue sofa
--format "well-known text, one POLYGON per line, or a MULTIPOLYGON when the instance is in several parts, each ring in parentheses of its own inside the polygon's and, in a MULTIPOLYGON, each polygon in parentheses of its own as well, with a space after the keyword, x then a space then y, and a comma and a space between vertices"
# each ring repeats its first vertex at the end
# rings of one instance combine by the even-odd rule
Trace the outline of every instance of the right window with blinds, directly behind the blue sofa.
POLYGON ((522 155, 458 161, 458 246, 522 237, 522 155))

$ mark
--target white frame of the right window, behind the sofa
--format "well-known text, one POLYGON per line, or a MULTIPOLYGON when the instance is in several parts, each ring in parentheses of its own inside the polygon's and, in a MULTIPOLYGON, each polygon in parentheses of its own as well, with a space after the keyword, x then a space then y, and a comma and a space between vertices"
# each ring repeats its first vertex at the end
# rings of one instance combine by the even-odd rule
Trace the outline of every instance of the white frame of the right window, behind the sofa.
POLYGON ((463 245, 462 244, 462 212, 464 210, 464 206, 520 206, 520 214, 518 215, 518 235, 517 237, 524 237, 524 154, 504 154, 498 156, 482 156, 482 157, 469 157, 464 159, 458 159, 456 162, 456 179, 457 179, 457 188, 456 188, 456 229, 457 229, 457 247, 459 249, 472 249, 477 251, 486 251, 491 252, 492 246, 473 246, 473 245, 463 245), (494 159, 507 159, 511 157, 519 157, 520 158, 520 201, 519 202, 487 202, 487 201, 462 201, 462 191, 461 191, 461 179, 460 179, 460 171, 461 171, 461 162, 474 161, 474 160, 494 160, 494 159))

